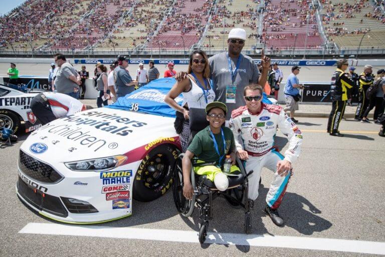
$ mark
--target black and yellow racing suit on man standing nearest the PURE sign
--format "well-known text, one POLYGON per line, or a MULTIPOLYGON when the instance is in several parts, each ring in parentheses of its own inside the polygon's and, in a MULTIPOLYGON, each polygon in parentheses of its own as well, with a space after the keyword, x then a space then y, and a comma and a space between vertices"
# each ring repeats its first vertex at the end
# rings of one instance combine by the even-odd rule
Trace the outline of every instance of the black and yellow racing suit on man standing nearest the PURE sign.
POLYGON ((347 90, 353 88, 354 81, 344 71, 336 69, 331 77, 330 95, 332 100, 331 112, 327 122, 327 132, 339 133, 338 126, 345 112, 347 90))

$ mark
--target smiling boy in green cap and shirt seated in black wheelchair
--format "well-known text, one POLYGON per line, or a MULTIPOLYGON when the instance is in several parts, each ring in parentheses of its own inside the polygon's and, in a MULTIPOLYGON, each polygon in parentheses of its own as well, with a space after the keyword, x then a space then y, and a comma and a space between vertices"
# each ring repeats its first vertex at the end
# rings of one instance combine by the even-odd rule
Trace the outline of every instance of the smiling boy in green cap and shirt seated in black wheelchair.
MULTIPOLYGON (((234 206, 245 209, 245 232, 251 232, 251 208, 248 198, 248 180, 243 164, 235 156, 235 140, 232 131, 225 126, 227 107, 222 102, 211 102, 206 106, 209 126, 198 132, 189 144, 186 153, 180 154, 173 173, 172 191, 179 213, 189 217, 195 204, 199 208, 199 240, 205 241, 209 220, 213 217, 213 199, 219 195, 234 206), (225 156, 230 155, 230 173, 222 172, 225 156), (191 162, 191 159, 194 159, 191 162), (235 163, 238 163, 238 168, 235 163), (234 197, 233 197, 234 195, 234 197)), ((202 111, 202 110, 201 110, 202 111)), ((190 113, 193 112, 190 109, 190 113)), ((204 114, 200 114, 200 119, 204 114)), ((190 126, 194 124, 190 115, 190 126)), ((198 125, 203 127, 203 125, 198 125)), ((193 131, 193 130, 192 130, 193 131)), ((249 174, 251 174, 249 172, 249 174)))

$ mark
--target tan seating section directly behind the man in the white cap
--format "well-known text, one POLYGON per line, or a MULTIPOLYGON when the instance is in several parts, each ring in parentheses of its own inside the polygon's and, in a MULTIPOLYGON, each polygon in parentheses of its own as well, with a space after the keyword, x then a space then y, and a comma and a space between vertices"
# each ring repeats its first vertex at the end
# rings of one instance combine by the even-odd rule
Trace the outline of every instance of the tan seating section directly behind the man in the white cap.
POLYGON ((253 0, 220 1, 217 12, 212 16, 209 31, 203 42, 204 49, 227 49, 227 38, 231 29, 243 28, 248 40, 244 49, 251 49, 258 39, 259 14, 258 4, 253 0))

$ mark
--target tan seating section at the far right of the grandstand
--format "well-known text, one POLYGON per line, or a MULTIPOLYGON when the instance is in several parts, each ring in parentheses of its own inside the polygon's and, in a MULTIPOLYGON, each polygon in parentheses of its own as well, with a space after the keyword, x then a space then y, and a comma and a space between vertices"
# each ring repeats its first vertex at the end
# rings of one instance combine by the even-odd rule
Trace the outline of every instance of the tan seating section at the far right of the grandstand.
POLYGON ((361 49, 383 48, 385 21, 367 17, 374 13, 371 3, 363 0, 329 0, 321 11, 329 40, 341 49, 357 49, 361 39, 361 49))

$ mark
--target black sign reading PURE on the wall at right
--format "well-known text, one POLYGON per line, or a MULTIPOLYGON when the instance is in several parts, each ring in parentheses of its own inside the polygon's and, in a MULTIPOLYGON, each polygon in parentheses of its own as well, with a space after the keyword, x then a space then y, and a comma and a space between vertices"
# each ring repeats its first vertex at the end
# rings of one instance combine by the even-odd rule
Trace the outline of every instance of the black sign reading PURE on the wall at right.
POLYGON ((331 102, 330 83, 303 83, 302 102, 331 102))

